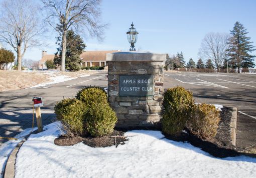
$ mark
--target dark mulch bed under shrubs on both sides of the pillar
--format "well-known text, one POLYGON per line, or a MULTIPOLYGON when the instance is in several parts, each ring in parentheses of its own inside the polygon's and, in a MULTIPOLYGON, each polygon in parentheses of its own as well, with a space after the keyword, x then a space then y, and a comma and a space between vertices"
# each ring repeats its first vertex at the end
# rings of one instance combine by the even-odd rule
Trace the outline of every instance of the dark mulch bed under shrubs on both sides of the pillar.
MULTIPOLYGON (((239 147, 235 147, 231 143, 230 136, 230 119, 231 119, 231 110, 228 107, 223 107, 220 111, 220 122, 219 127, 217 129, 217 134, 213 138, 202 139, 197 135, 194 135, 189 132, 188 129, 185 128, 179 136, 170 136, 165 134, 165 138, 175 140, 175 141, 188 141, 192 145, 196 147, 200 147, 203 151, 208 152, 209 154, 215 157, 229 157, 229 156, 238 156, 238 155, 247 155, 256 157, 255 154, 244 153, 244 150, 239 147)), ((110 136, 103 137, 80 137, 74 136, 69 137, 67 135, 61 135, 59 138, 54 140, 56 145, 60 146, 69 146, 74 145, 79 142, 83 142, 84 144, 91 147, 106 147, 118 144, 124 144, 124 141, 127 141, 127 137, 118 137, 123 136, 124 132, 127 130, 138 129, 136 128, 126 128, 126 129, 118 129, 114 130, 114 132, 110 136), (117 136, 117 137, 113 137, 117 136)), ((153 128, 139 128, 144 130, 160 130, 159 127, 153 128)))

